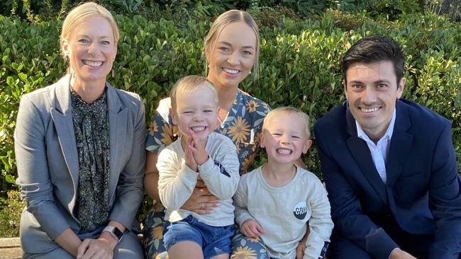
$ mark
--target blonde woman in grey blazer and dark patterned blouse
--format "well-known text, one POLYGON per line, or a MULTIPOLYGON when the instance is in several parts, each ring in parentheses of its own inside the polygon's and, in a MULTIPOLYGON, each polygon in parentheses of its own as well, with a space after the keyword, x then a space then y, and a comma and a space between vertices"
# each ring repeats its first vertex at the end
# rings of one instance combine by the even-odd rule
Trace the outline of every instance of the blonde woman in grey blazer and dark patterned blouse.
POLYGON ((69 73, 21 99, 15 131, 23 258, 143 258, 130 231, 143 200, 140 98, 106 83, 118 29, 94 3, 65 19, 69 73))

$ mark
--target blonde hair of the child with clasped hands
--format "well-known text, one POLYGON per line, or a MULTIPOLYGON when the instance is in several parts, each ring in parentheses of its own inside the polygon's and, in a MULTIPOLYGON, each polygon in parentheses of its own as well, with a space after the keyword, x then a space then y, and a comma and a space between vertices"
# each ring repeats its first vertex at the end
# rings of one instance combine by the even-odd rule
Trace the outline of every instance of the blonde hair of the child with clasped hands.
POLYGON ((213 83, 211 83, 211 81, 206 79, 204 76, 184 76, 183 78, 176 81, 176 84, 174 84, 170 91, 171 106, 174 113, 176 113, 177 96, 192 93, 199 87, 205 87, 211 91, 214 100, 213 105, 218 107, 218 93, 216 92, 216 88, 214 87, 213 83))

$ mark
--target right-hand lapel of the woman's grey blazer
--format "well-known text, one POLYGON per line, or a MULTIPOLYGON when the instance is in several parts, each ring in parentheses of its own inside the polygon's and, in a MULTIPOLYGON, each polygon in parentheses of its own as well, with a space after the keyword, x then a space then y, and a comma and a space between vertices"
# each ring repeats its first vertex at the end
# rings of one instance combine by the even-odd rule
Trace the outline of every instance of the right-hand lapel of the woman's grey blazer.
POLYGON ((116 90, 109 84, 107 84, 107 86, 109 141, 111 146, 111 159, 109 160, 109 204, 112 204, 113 193, 117 187, 118 175, 123 170, 124 161, 121 156, 125 153, 123 144, 125 143, 126 127, 128 125, 128 109, 121 102, 116 90))

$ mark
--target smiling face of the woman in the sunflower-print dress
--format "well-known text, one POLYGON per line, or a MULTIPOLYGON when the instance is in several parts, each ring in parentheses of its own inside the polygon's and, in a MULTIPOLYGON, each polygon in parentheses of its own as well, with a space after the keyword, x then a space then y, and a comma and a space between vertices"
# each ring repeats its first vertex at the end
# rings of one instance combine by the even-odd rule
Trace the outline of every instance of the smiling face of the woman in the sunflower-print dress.
POLYGON ((256 44, 256 35, 248 24, 240 21, 226 25, 206 53, 208 79, 217 88, 237 88, 255 63, 256 44))

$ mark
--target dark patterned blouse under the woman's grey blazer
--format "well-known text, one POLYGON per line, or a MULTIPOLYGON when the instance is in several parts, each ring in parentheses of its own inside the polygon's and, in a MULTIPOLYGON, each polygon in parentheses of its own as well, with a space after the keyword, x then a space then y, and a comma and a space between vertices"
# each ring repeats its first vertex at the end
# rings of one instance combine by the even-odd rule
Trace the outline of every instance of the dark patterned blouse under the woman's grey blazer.
POLYGON ((72 120, 79 154, 79 187, 75 212, 83 231, 105 224, 109 217, 109 110, 107 87, 93 103, 71 89, 72 120))

